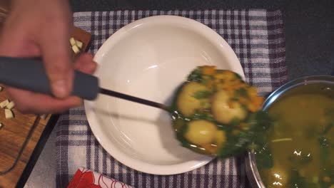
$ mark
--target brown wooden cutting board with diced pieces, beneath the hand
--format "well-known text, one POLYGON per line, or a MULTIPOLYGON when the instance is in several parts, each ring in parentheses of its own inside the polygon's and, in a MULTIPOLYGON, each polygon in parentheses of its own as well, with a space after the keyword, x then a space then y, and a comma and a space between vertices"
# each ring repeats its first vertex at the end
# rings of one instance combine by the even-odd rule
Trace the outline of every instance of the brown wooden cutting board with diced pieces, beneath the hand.
MULTIPOLYGON (((86 51, 91 41, 91 34, 75 27, 72 37, 82 41, 81 51, 86 51)), ((70 44, 69 50, 71 51, 70 44)), ((74 53, 72 55, 74 59, 78 56, 74 53)), ((0 92, 0 102, 8 98, 9 95, 4 88, 0 92)), ((4 109, 0 108, 0 122, 4 125, 0 129, 0 188, 16 187, 51 116, 47 115, 44 119, 39 115, 21 114, 15 108, 13 112, 15 117, 7 120, 4 109)))

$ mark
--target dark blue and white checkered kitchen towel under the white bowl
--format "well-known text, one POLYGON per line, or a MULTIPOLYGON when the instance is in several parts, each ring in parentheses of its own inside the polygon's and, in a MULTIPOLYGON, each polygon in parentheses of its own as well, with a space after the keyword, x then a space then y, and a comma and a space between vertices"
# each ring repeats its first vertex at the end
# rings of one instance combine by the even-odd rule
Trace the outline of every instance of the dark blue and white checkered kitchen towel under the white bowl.
MULTIPOLYGON (((171 14, 195 19, 213 28, 236 52, 246 81, 270 93, 287 78, 280 11, 107 11, 74 14, 76 26, 93 34, 91 52, 122 26, 147 16, 171 14)), ((192 172, 156 176, 117 162, 92 135, 83 108, 61 115, 57 126, 57 187, 66 187, 76 169, 86 167, 133 187, 247 187, 243 160, 213 160, 192 172)))

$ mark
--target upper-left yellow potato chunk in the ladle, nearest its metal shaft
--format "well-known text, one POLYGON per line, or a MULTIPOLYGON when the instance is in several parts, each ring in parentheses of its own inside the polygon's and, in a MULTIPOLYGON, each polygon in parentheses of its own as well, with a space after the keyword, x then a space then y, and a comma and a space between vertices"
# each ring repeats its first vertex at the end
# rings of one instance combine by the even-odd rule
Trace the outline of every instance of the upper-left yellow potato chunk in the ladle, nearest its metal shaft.
POLYGON ((195 110, 201 108, 201 100, 195 98, 195 93, 201 91, 208 91, 206 86, 201 83, 190 82, 183 85, 181 93, 178 95, 177 106, 186 117, 193 115, 195 110))

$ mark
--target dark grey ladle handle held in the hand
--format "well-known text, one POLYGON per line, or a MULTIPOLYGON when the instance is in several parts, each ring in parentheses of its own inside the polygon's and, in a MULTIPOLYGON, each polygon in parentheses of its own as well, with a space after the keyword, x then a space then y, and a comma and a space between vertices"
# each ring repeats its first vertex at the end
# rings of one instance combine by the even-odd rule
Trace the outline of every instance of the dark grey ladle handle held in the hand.
MULTIPOLYGON (((40 60, 0 57, 0 83, 14 88, 52 95, 49 79, 40 60)), ((71 95, 93 100, 99 92, 98 78, 75 71, 71 95)))

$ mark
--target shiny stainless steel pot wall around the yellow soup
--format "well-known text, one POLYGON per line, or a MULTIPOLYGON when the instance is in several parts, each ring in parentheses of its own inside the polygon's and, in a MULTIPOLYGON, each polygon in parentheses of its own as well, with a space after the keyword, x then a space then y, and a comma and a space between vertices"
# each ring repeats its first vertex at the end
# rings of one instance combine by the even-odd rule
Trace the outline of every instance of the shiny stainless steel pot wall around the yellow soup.
MULTIPOLYGON (((278 98, 295 92, 298 88, 309 87, 310 92, 330 92, 334 95, 334 76, 330 75, 312 75, 303 78, 298 78, 291 80, 288 83, 280 86, 271 93, 268 98, 263 103, 263 110, 268 110, 270 105, 272 105, 278 98), (323 85, 318 85, 323 84, 323 85), (325 86, 324 86, 325 85, 325 86)), ((246 155, 246 174, 253 188, 264 188, 260 174, 258 172, 258 167, 256 166, 255 154, 253 152, 248 152, 246 155)))

